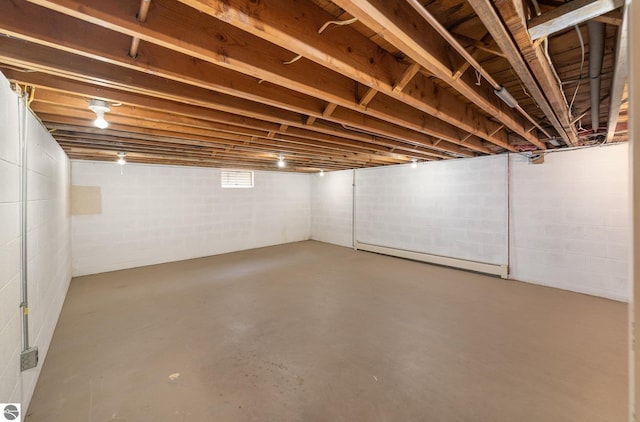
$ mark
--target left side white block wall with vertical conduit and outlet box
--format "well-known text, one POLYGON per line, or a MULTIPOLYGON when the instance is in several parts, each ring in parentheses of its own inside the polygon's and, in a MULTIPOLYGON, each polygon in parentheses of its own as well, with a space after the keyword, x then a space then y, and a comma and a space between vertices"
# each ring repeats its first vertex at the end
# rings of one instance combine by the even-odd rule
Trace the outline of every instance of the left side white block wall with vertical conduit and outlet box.
POLYGON ((71 279, 69 160, 28 114, 27 274, 30 344, 40 362, 20 372, 20 135, 18 97, 0 75, 0 402, 28 408, 71 279))

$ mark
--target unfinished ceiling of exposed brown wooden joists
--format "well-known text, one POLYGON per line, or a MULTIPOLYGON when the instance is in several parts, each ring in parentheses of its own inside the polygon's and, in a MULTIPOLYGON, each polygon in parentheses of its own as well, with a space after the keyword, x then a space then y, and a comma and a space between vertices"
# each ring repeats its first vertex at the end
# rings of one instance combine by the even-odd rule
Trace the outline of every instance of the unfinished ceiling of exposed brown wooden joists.
POLYGON ((624 8, 5 0, 0 72, 74 159, 276 170, 282 155, 316 172, 566 148, 627 140, 624 8))

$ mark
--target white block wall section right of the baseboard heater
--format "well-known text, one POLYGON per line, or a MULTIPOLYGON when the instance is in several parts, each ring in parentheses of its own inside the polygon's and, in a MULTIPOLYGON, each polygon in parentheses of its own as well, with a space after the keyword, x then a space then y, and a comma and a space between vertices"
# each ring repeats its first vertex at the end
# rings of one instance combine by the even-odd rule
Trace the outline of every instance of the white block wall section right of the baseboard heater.
POLYGON ((629 300, 628 145, 511 156, 511 278, 629 300))

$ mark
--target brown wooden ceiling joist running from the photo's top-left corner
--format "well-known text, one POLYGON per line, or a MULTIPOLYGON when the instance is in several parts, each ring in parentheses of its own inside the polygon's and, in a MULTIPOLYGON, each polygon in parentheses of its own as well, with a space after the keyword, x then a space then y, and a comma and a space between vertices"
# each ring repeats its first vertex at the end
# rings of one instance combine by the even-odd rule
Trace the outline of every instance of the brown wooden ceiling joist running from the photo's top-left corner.
MULTIPOLYGON (((128 43, 128 37, 94 25, 78 26, 75 19, 64 15, 48 17, 50 25, 37 25, 37 22, 43 19, 39 13, 43 10, 46 11, 36 6, 19 9, 12 7, 9 3, 4 6, 0 4, 0 27, 5 28, 13 36, 46 46, 54 46, 58 42, 56 37, 60 28, 65 28, 64 51, 98 58, 127 69, 151 73, 256 103, 295 111, 311 118, 322 116, 324 103, 315 97, 277 88, 270 84, 258 84, 254 77, 232 72, 209 62, 194 60, 155 45, 141 45, 138 58, 133 60, 121 52, 118 53, 118 46, 128 43), (18 19, 19 16, 22 20, 18 19), (24 22, 34 22, 34 24, 25 25, 24 22)), ((363 110, 353 103, 352 98, 353 94, 350 91, 343 92, 341 97, 324 98, 357 111, 349 114, 350 122, 338 123, 354 126, 353 121, 359 120, 359 114, 363 110)), ((380 100, 380 107, 369 107, 365 112, 369 116, 399 126, 419 128, 423 133, 451 142, 459 141, 461 138, 460 131, 456 127, 442 122, 439 118, 425 116, 421 110, 408 107, 388 97, 380 100)))

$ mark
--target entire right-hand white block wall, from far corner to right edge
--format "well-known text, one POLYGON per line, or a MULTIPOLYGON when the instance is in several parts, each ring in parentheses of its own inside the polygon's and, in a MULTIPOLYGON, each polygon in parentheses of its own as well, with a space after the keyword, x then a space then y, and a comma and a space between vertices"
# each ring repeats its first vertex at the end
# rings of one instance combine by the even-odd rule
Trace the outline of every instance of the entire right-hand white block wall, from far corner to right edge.
MULTIPOLYGON (((627 301, 628 148, 549 153, 537 165, 512 154, 508 178, 505 155, 357 170, 356 238, 482 262, 509 260, 511 279, 627 301)), ((312 183, 312 236, 345 246, 338 236, 353 224, 345 212, 352 206, 350 180, 337 180, 312 183)))

